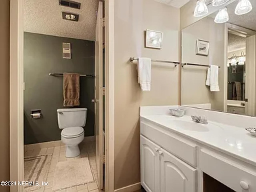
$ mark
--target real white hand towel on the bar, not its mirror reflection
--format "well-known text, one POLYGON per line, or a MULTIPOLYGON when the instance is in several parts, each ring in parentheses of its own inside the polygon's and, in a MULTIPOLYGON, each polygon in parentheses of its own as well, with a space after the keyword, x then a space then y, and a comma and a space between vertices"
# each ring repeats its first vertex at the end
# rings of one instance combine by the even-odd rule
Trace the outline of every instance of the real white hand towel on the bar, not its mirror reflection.
POLYGON ((151 59, 139 58, 138 83, 142 91, 150 91, 151 88, 151 59))

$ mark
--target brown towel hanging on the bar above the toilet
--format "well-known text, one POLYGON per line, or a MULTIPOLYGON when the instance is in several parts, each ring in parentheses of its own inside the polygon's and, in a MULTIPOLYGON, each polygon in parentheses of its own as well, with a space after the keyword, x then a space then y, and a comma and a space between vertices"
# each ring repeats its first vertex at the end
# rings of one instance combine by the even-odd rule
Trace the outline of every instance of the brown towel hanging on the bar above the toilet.
POLYGON ((63 76, 64 106, 79 106, 80 74, 64 73, 63 76))

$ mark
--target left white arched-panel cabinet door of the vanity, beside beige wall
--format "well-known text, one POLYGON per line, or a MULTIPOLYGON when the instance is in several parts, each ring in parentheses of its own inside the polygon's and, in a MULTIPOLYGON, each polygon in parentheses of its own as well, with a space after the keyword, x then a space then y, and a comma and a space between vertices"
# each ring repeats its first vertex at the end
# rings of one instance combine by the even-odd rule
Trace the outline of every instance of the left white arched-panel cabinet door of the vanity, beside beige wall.
POLYGON ((159 149, 158 145, 140 136, 140 177, 147 192, 160 192, 159 149))

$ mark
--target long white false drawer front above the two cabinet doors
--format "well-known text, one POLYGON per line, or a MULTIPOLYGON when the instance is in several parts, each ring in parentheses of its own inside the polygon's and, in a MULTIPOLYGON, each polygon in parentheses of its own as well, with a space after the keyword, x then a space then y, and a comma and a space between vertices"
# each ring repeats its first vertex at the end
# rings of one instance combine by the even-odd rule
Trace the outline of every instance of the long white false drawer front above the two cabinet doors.
POLYGON ((140 123, 140 133, 188 164, 196 166, 197 146, 193 142, 167 132, 160 126, 144 122, 140 123))

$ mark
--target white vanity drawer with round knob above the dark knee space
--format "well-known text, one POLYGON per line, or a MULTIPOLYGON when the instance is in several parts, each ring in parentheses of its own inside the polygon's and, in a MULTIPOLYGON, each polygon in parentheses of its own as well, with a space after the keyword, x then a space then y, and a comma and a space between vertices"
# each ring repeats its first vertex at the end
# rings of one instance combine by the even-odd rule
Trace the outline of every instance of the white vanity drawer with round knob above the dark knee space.
POLYGON ((256 169, 244 166, 231 157, 229 159, 211 150, 201 149, 198 166, 202 172, 236 192, 256 192, 256 169), (246 184, 249 186, 248 190, 242 188, 246 184))

